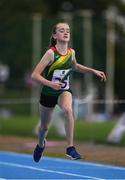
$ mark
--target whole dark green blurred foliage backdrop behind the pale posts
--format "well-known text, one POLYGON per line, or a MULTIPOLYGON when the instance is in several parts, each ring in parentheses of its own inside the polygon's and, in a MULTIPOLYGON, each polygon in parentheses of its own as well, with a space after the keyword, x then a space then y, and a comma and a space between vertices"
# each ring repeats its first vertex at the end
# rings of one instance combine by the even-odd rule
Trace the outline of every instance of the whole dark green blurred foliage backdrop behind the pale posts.
MULTIPOLYGON (((32 71, 33 60, 33 15, 42 16, 41 56, 48 48, 51 27, 60 20, 60 12, 70 12, 73 17, 73 48, 76 50, 78 62, 84 63, 83 26, 80 10, 92 12, 93 67, 105 71, 106 66, 106 19, 105 10, 110 6, 116 8, 117 14, 124 18, 124 0, 0 0, 0 62, 10 68, 10 78, 1 84, 1 98, 29 97, 31 88, 25 83, 26 73, 32 71), (13 92, 12 92, 13 91, 13 92), (25 91, 25 93, 24 93, 25 91), (12 94, 11 94, 12 92, 12 94)), ((125 99, 125 83, 121 81, 125 69, 125 25, 114 22, 115 42, 115 97, 125 99)), ((39 61, 39 59, 37 60, 39 61)), ((77 76, 77 75, 76 75, 77 76)), ((80 75, 78 75, 80 77, 80 75)), ((94 78, 99 88, 99 96, 104 96, 104 85, 94 78)), ((124 110, 124 106, 121 107, 124 110)))

